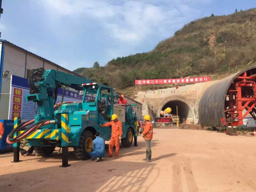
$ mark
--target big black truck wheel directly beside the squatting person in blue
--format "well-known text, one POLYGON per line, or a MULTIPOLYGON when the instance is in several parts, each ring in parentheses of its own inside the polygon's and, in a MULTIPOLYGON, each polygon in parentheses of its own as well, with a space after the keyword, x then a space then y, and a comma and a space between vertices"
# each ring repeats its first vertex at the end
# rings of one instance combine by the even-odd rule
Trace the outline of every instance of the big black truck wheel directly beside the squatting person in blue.
POLYGON ((89 159, 89 152, 92 150, 93 133, 91 131, 83 131, 79 140, 79 146, 74 147, 74 153, 77 159, 89 159))

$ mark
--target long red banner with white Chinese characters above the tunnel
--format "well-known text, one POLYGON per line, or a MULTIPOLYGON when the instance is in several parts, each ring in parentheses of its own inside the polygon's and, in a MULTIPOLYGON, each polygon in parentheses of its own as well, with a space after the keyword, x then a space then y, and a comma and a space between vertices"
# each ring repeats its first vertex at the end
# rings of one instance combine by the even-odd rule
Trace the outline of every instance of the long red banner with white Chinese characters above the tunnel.
POLYGON ((176 84, 176 83, 200 83, 210 81, 210 77, 189 77, 182 79, 149 79, 135 80, 135 84, 176 84))

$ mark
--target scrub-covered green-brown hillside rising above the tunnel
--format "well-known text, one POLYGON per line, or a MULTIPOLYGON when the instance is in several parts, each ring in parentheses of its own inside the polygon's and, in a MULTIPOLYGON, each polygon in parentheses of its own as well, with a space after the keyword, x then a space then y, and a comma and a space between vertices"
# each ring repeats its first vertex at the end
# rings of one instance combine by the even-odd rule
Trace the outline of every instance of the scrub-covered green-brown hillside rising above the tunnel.
POLYGON ((82 76, 115 88, 134 86, 135 79, 227 76, 255 65, 256 9, 198 19, 163 40, 151 52, 116 58, 100 68, 78 68, 82 76), (248 64, 249 63, 249 64, 248 64))

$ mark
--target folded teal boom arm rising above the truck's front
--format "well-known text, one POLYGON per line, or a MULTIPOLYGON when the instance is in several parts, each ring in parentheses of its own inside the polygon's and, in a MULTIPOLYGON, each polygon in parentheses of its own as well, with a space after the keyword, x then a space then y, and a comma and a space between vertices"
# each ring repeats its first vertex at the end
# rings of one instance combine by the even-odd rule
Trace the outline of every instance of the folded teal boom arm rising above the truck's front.
POLYGON ((58 88, 69 86, 76 90, 83 90, 82 84, 92 83, 90 79, 66 74, 57 70, 44 70, 37 68, 29 77, 30 95, 27 101, 37 102, 39 114, 36 121, 54 120, 54 104, 58 95, 58 88))

